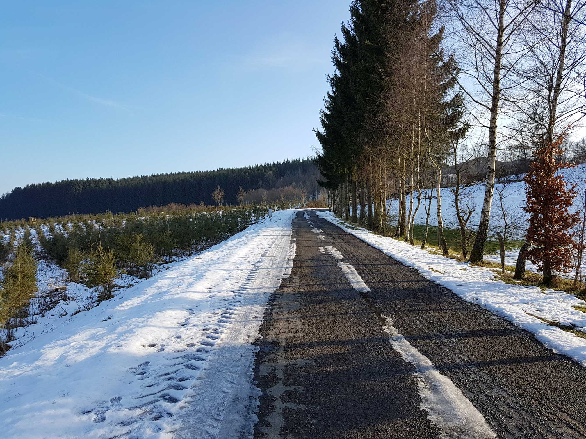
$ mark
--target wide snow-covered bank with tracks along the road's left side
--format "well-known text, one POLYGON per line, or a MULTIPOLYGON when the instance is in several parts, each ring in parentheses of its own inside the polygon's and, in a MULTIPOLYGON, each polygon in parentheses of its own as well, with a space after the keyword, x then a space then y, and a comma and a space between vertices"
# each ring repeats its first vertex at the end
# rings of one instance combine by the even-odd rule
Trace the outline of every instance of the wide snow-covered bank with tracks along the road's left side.
POLYGON ((292 267, 294 214, 88 311, 53 313, 50 330, 29 326, 28 343, 0 358, 2 438, 250 436, 252 342, 292 267))

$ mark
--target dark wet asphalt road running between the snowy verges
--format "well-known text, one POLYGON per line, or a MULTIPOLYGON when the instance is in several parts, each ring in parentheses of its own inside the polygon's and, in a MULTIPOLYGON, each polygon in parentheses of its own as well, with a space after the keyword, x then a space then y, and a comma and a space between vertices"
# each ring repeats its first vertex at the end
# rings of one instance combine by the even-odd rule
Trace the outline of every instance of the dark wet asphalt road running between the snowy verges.
POLYGON ((306 214, 312 224, 304 212, 293 220, 294 266, 261 326, 255 437, 473 438, 430 420, 415 366, 383 329, 390 317, 496 437, 586 438, 585 368, 306 214), (370 291, 352 287, 325 246, 338 249, 370 291))

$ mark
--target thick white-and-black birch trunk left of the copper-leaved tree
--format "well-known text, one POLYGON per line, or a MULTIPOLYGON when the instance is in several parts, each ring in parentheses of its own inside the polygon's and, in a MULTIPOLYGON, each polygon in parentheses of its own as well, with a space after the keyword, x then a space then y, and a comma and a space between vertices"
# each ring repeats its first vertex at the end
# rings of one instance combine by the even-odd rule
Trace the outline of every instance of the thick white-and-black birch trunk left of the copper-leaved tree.
POLYGON ((499 116, 500 102, 500 68, 503 58, 503 33, 505 32, 505 10, 506 0, 499 0, 499 30, 496 37, 495 67, 492 76, 492 105, 490 106, 490 124, 488 128, 488 157, 486 158, 486 180, 484 201, 478 234, 470 252, 470 262, 481 263, 484 259, 484 246, 488 235, 488 223, 490 221, 490 208, 492 207, 492 196, 495 193, 495 166, 496 166, 496 134, 497 119, 499 116))

